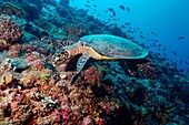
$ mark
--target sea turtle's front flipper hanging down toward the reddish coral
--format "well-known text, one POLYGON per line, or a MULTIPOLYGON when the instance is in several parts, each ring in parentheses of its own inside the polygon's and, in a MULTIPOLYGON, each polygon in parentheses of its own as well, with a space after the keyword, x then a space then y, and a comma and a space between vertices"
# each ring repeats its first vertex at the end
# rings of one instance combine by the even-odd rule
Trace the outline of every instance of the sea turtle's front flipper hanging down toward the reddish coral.
POLYGON ((81 55, 77 62, 77 72, 74 74, 74 76, 71 80, 71 85, 76 82, 76 80, 78 79, 79 73, 81 72, 81 70, 84 67, 87 61, 89 60, 90 56, 87 55, 81 55))

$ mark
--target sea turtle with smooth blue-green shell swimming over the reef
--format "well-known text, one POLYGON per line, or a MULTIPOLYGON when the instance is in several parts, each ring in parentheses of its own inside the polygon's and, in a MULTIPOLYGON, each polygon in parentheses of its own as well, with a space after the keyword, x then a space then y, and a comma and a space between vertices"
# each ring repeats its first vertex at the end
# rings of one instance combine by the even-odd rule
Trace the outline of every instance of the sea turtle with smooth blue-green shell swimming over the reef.
POLYGON ((137 43, 111 34, 91 34, 80 38, 80 40, 69 46, 63 46, 52 56, 52 65, 57 65, 67 59, 82 54, 77 62, 76 76, 81 72, 84 64, 92 58, 94 60, 132 60, 143 59, 148 55, 148 50, 137 43))

